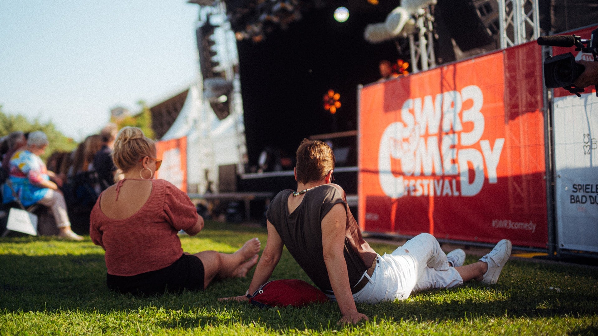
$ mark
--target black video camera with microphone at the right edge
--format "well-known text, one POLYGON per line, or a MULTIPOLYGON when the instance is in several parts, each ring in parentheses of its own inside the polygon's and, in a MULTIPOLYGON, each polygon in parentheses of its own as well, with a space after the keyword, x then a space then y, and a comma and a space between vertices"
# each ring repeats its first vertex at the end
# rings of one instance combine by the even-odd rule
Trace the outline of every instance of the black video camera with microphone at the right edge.
MULTIPOLYGON (((539 45, 552 45, 554 47, 573 47, 575 51, 591 53, 594 56, 594 62, 598 61, 598 29, 592 31, 590 39, 582 39, 577 35, 554 35, 540 36, 539 45), (588 46, 585 47, 584 44, 588 46)), ((584 72, 585 67, 575 62, 572 53, 560 54, 548 57, 544 60, 544 85, 547 88, 562 87, 581 97, 580 92, 583 88, 576 87, 573 82, 584 72)), ((598 96, 598 90, 596 92, 598 96)))

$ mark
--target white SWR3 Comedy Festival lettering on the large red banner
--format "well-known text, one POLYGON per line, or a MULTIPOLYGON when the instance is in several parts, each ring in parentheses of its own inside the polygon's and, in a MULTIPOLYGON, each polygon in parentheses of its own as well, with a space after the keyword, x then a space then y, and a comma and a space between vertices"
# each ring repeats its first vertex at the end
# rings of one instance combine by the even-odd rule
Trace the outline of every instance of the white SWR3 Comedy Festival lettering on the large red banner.
POLYGON ((475 196, 484 185, 484 169, 488 183, 497 183, 496 169, 505 139, 495 139, 494 146, 490 146, 490 140, 481 140, 485 127, 483 105, 484 95, 477 85, 405 100, 401 121, 389 124, 380 139, 378 168, 384 193, 392 198, 475 196), (471 108, 462 111, 463 102, 468 100, 471 108), (471 123, 471 131, 463 132, 462 123, 471 123), (445 133, 452 132, 444 134, 439 142, 441 127, 445 133), (481 152, 455 147, 478 143, 481 152), (393 168, 393 160, 400 162, 400 167, 393 168), (395 176, 393 170, 401 175, 395 176), (422 175, 431 178, 417 178, 422 175), (443 176, 459 176, 459 190, 456 178, 443 176))

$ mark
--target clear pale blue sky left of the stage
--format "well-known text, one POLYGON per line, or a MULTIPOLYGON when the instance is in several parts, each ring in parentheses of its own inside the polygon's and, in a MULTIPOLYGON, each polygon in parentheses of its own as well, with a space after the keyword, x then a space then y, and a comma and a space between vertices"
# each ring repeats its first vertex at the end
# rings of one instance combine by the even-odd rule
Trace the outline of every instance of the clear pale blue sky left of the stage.
POLYGON ((76 140, 197 78, 186 0, 0 0, 0 105, 76 140))

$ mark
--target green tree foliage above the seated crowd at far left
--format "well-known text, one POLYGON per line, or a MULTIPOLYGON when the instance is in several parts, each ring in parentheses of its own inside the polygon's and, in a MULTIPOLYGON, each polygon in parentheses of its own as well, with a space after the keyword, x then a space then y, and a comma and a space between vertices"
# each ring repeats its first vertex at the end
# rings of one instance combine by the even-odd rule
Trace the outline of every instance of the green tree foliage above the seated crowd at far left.
POLYGON ((33 120, 33 123, 30 123, 23 115, 5 114, 2 111, 2 105, 0 105, 0 136, 5 136, 15 131, 23 131, 25 133, 42 131, 48 136, 48 148, 45 150, 45 154, 41 155, 44 161, 53 152, 70 152, 77 147, 77 142, 60 133, 51 121, 44 124, 40 123, 36 118, 33 120))

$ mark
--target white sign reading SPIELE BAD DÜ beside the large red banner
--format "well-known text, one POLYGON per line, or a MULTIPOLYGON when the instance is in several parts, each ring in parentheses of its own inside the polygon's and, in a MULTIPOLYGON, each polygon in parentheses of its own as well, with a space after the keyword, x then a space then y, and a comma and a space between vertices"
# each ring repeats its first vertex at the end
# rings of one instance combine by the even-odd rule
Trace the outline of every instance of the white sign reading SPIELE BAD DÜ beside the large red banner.
POLYGON ((598 252, 598 97, 554 99, 559 248, 598 252))

